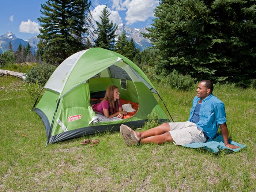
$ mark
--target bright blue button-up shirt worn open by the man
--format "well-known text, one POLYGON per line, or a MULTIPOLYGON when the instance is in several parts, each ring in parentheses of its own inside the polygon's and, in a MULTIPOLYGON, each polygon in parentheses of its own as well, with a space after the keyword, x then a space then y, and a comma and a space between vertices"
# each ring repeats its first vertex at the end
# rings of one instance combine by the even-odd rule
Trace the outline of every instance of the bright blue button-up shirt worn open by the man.
MULTIPOLYGON (((197 96, 193 99, 193 107, 190 110, 188 121, 191 121, 196 104, 199 100, 200 98, 197 96)), ((208 138, 213 139, 218 131, 219 125, 227 121, 224 103, 213 94, 210 94, 202 100, 199 117, 200 119, 196 123, 197 127, 201 129, 208 138)))

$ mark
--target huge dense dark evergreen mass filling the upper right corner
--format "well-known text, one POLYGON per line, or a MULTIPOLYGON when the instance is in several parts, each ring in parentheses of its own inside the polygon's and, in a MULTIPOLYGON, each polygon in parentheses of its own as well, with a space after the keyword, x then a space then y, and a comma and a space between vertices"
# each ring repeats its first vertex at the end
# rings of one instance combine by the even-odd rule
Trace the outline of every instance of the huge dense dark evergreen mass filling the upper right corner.
POLYGON ((256 1, 162 0, 143 34, 160 51, 159 70, 246 82, 256 76, 256 1))

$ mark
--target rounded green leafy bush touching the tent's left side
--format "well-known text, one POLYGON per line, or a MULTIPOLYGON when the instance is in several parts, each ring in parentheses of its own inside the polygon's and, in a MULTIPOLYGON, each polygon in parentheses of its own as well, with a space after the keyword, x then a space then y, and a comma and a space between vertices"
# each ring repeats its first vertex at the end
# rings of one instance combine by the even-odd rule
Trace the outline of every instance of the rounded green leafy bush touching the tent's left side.
POLYGON ((38 83, 41 86, 44 86, 55 69, 56 67, 53 65, 38 65, 32 67, 27 73, 26 82, 34 84, 38 83))

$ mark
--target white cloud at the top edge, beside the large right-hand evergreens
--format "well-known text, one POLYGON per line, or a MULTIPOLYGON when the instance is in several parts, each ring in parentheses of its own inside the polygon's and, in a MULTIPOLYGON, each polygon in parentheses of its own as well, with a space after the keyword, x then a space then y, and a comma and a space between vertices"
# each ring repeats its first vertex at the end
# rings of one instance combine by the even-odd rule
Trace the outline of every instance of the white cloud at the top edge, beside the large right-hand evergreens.
POLYGON ((156 0, 125 0, 123 5, 127 8, 125 20, 127 25, 138 21, 146 21, 149 17, 154 17, 153 10, 159 5, 156 0))

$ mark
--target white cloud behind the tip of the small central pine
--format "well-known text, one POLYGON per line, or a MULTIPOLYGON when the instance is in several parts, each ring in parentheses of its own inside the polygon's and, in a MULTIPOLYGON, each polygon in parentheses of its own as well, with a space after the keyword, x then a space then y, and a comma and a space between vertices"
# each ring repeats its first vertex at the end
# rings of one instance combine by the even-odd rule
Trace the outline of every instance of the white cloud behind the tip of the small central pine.
MULTIPOLYGON (((101 11, 103 10, 104 7, 105 7, 105 5, 98 5, 97 7, 95 7, 95 9, 93 11, 91 11, 91 14, 93 15, 93 18, 97 22, 101 22, 101 18, 99 18, 99 15, 101 15, 101 11)), ((120 23, 123 22, 120 15, 118 14, 118 11, 110 10, 110 8, 107 8, 107 10, 110 13, 110 15, 109 15, 109 20, 110 21, 113 21, 113 23, 116 23, 117 25, 119 25, 120 23)), ((97 28, 96 23, 94 23, 94 24, 95 24, 94 25, 95 28, 97 28)))

